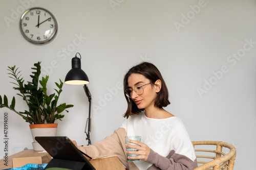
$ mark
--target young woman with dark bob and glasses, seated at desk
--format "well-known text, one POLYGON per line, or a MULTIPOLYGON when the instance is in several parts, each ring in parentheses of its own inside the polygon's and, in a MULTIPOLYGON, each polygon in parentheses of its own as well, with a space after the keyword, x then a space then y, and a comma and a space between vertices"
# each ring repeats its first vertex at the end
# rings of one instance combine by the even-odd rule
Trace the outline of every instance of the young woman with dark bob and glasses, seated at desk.
POLYGON ((163 109, 170 104, 168 90, 157 67, 148 62, 132 67, 124 76, 127 119, 114 134, 102 141, 78 147, 94 159, 118 156, 127 169, 194 169, 197 160, 182 120, 163 109), (139 135, 137 145, 124 136, 139 135), (138 151, 126 152, 126 148, 138 151), (126 154, 138 156, 127 161, 126 154))

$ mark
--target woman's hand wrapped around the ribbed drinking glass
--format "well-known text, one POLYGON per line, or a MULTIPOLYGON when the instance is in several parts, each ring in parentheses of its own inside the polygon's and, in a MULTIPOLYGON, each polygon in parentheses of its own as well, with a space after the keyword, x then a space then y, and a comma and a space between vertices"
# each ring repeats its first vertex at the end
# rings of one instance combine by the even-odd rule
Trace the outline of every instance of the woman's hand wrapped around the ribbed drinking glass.
POLYGON ((148 147, 145 143, 141 143, 137 140, 128 140, 130 143, 138 144, 125 144, 126 147, 128 148, 133 148, 138 151, 126 151, 126 154, 135 154, 138 156, 133 156, 133 157, 128 157, 129 159, 140 159, 143 161, 146 161, 148 158, 148 155, 150 155, 150 147, 148 147))

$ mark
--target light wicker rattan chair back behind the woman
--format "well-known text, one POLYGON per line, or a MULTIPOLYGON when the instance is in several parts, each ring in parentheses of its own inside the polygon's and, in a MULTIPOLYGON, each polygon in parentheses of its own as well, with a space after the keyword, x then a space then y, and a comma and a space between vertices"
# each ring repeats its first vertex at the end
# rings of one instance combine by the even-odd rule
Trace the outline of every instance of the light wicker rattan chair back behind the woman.
POLYGON ((192 143, 194 145, 198 161, 198 167, 194 170, 233 169, 234 159, 236 159, 236 148, 234 148, 232 144, 222 141, 193 141, 192 143), (200 145, 200 148, 204 149, 198 149, 198 145, 200 145), (208 149, 213 146, 215 150, 208 149))

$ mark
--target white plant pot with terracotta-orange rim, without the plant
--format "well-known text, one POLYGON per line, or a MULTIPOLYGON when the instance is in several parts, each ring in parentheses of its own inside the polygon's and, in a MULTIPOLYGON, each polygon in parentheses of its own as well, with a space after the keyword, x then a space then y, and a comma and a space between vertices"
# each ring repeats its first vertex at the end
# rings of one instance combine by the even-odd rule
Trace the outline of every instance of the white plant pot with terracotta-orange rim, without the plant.
POLYGON ((33 137, 33 149, 34 151, 44 151, 39 143, 35 140, 35 136, 56 136, 58 124, 35 124, 29 125, 30 131, 33 137))

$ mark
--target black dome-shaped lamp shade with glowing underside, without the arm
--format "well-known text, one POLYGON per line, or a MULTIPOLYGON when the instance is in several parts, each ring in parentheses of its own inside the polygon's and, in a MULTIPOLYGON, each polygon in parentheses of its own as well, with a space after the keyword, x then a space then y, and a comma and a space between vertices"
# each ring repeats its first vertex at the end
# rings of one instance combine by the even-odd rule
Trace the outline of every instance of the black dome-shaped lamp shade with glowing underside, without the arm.
POLYGON ((89 83, 86 73, 81 69, 80 58, 72 58, 72 69, 68 72, 65 78, 65 83, 72 85, 83 85, 89 83))

